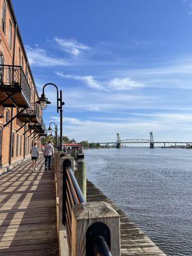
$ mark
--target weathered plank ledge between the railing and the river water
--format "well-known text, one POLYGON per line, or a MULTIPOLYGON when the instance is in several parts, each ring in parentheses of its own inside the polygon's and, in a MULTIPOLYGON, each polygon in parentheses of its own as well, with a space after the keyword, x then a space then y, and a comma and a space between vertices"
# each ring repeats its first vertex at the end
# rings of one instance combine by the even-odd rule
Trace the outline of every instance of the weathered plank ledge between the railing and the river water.
MULTIPOLYGON (((120 237, 122 256, 166 256, 143 231, 134 224, 107 196, 92 182, 87 181, 87 202, 108 202, 120 214, 120 237)), ((160 231, 160 230, 159 230, 160 231)))

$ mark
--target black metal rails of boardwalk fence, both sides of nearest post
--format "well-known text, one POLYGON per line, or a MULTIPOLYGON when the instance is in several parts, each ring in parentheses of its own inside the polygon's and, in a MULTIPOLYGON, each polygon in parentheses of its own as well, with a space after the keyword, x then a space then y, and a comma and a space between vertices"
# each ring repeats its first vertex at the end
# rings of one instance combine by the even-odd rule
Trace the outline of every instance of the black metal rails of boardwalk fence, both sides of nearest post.
MULTIPOLYGON (((72 207, 85 203, 83 193, 70 168, 68 161, 63 163, 63 224, 67 229, 68 250, 71 255, 72 248, 72 207)), ((100 223, 95 223, 100 228, 100 223)), ((86 245, 86 255, 88 256, 112 256, 108 244, 103 236, 95 236, 86 245)))

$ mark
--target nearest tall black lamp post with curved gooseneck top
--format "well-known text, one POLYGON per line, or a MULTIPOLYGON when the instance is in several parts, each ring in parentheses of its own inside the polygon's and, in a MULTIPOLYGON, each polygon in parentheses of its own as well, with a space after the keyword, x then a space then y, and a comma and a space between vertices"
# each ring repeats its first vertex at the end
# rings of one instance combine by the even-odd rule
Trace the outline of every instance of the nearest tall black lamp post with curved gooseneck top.
POLYGON ((45 110, 45 108, 47 108, 47 104, 51 104, 51 102, 46 98, 45 96, 45 87, 47 85, 52 85, 56 88, 57 90, 57 113, 59 113, 60 111, 60 151, 62 151, 63 148, 63 105, 65 105, 65 102, 63 102, 62 98, 62 91, 60 90, 60 97, 59 97, 59 90, 58 90, 58 86, 56 86, 56 84, 53 83, 47 83, 44 85, 43 87, 43 92, 42 92, 42 96, 40 97, 40 99, 38 101, 36 101, 36 103, 40 104, 40 107, 42 108, 42 110, 45 110))

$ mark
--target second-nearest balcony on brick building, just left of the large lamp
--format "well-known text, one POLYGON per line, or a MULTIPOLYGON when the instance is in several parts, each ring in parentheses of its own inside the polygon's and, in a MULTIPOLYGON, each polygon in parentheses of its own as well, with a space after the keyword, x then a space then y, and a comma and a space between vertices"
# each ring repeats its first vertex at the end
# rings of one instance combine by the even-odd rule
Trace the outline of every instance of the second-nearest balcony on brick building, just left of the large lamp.
MULTIPOLYGON (((21 111, 22 108, 17 108, 17 112, 21 111)), ((25 109, 20 115, 18 116, 20 120, 23 122, 31 122, 31 123, 39 123, 40 122, 40 107, 38 104, 31 103, 31 108, 25 109)))

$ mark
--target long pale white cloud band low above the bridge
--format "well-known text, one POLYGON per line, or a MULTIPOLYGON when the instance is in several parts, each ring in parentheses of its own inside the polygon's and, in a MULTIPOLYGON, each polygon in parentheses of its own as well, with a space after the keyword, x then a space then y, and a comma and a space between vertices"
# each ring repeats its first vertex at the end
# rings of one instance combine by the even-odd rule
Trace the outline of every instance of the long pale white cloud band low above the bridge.
MULTIPOLYGON (((51 120, 60 122, 59 117, 51 117, 51 120)), ((116 132, 122 134, 122 139, 127 138, 149 138, 149 132, 153 131, 155 140, 192 140, 191 136, 186 137, 186 132, 191 129, 192 120, 186 124, 185 120, 178 123, 177 118, 168 122, 167 118, 139 120, 81 120, 79 118, 67 117, 63 120, 65 134, 69 138, 76 138, 77 141, 100 141, 108 142, 116 140, 116 132), (168 125, 169 124, 169 125, 168 125), (129 127, 129 129, 127 129, 129 127), (175 132, 177 131, 177 132, 175 132)))

